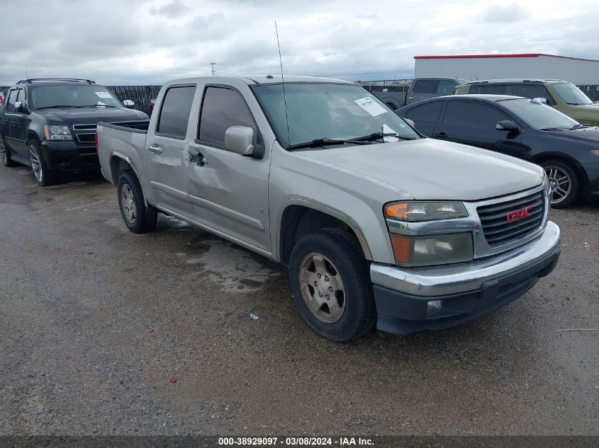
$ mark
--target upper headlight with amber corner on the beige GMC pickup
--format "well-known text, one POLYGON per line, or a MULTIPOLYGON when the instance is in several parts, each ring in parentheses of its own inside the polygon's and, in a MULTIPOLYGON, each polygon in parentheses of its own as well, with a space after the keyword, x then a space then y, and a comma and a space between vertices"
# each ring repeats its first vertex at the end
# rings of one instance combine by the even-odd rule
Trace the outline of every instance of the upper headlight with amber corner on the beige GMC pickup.
POLYGON ((385 207, 388 218, 402 221, 431 221, 433 219, 465 218, 466 207, 461 202, 394 202, 385 207))

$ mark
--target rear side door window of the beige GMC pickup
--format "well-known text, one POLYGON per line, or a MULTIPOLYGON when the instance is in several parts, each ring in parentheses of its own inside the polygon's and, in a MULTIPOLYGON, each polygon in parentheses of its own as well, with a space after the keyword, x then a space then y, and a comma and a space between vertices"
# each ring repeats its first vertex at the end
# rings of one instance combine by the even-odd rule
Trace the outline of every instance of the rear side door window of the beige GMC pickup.
POLYGON ((174 139, 185 139, 191 103, 196 93, 195 86, 171 87, 162 101, 157 134, 174 139))

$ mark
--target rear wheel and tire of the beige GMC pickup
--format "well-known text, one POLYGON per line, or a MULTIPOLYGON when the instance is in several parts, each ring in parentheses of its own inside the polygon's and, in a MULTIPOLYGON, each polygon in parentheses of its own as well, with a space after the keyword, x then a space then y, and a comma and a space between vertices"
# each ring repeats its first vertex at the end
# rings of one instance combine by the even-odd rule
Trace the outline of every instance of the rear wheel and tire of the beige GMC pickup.
POLYGON ((142 188, 134 173, 125 171, 118 178, 118 207, 125 225, 134 234, 144 234, 156 228, 158 211, 145 205, 142 188))

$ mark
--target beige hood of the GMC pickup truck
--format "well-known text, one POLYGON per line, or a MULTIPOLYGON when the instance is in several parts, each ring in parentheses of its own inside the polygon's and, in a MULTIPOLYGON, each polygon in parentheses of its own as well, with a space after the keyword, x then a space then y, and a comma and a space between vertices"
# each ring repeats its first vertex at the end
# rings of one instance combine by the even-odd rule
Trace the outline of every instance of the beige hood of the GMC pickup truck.
POLYGON ((483 200, 536 187, 544 178, 543 169, 532 163, 436 139, 315 149, 301 155, 374 178, 416 200, 483 200))

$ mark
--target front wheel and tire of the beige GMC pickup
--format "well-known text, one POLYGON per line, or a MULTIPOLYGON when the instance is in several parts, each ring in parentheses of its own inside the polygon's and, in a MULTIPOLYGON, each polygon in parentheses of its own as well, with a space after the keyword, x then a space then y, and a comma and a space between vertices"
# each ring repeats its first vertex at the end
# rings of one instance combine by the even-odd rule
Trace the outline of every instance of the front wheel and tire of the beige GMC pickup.
POLYGON ((291 251, 289 282, 303 318, 325 338, 352 340, 374 328, 368 263, 347 231, 320 229, 303 236, 291 251))

